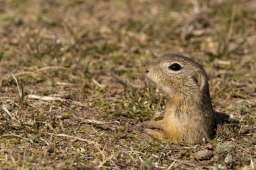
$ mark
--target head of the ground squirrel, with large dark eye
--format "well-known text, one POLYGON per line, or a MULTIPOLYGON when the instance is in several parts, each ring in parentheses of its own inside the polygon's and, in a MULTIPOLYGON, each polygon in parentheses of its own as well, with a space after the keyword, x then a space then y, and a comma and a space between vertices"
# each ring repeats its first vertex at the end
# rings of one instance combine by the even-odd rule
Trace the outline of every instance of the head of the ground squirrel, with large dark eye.
POLYGON ((171 97, 210 95, 207 75, 199 63, 179 54, 165 54, 145 67, 147 77, 171 97))

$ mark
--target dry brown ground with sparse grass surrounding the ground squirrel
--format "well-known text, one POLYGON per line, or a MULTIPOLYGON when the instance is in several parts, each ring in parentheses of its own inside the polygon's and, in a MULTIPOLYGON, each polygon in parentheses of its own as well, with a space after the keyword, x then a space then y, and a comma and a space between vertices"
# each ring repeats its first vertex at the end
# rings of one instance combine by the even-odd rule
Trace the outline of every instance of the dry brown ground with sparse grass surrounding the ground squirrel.
POLYGON ((255 11, 253 0, 0 1, 1 169, 255 169, 255 11), (208 144, 140 132, 166 102, 143 67, 165 53, 200 62, 229 116, 208 144))

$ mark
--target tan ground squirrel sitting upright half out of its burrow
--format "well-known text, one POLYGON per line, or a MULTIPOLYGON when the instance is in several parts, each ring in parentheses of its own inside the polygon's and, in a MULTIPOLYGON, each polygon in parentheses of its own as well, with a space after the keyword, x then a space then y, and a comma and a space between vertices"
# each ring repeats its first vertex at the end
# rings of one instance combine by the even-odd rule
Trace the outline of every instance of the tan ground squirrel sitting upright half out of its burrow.
POLYGON ((201 65, 178 54, 165 54, 146 65, 147 77, 166 95, 164 118, 144 123, 153 138, 201 143, 213 135, 213 114, 207 75, 201 65))

